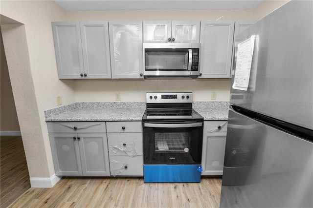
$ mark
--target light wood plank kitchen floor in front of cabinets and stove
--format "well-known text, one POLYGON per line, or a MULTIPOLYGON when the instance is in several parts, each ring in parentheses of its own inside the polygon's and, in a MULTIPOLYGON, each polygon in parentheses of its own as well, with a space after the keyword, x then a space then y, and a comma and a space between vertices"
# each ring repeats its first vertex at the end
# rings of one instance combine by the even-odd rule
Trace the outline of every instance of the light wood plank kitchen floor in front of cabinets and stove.
POLYGON ((221 177, 201 183, 151 183, 143 178, 63 177, 52 188, 30 188, 10 207, 218 208, 221 177))

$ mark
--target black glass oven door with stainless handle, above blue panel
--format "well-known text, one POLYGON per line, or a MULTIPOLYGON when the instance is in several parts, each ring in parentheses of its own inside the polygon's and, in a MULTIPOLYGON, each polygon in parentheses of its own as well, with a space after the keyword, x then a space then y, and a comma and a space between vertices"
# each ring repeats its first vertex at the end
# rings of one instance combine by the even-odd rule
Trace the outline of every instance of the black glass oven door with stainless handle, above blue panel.
POLYGON ((143 123, 144 164, 201 164, 203 122, 143 123))

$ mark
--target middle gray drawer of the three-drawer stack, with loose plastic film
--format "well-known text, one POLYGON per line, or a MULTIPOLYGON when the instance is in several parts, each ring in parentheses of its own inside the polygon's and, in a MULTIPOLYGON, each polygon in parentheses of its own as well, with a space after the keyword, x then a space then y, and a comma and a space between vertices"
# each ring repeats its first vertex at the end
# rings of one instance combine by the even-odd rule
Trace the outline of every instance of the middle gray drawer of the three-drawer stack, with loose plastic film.
POLYGON ((142 155, 141 133, 108 133, 110 155, 142 155))

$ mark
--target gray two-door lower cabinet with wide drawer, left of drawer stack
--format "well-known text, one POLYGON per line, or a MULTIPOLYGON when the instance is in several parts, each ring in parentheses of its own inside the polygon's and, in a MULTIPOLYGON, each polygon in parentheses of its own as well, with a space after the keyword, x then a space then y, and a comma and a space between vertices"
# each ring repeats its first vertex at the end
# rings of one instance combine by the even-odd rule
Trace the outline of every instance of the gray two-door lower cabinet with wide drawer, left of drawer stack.
POLYGON ((56 175, 110 175, 105 122, 48 122, 47 125, 56 175), (81 133, 84 131, 87 133, 81 133))

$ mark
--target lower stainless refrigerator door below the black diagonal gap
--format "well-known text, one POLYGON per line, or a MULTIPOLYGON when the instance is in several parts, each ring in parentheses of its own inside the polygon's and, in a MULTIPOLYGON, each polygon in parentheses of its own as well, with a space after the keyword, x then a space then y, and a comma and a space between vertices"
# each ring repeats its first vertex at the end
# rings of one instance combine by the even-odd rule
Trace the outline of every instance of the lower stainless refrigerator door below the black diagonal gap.
POLYGON ((313 207, 313 143, 230 108, 220 208, 313 207))

